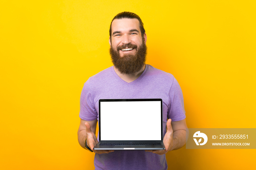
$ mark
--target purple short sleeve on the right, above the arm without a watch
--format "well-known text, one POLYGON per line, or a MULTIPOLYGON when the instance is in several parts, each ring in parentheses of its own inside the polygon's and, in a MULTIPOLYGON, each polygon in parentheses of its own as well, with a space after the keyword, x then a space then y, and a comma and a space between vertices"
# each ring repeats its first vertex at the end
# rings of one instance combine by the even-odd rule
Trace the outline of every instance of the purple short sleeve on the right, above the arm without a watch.
POLYGON ((167 114, 168 119, 179 121, 186 118, 184 109, 183 94, 177 80, 173 78, 173 83, 169 91, 170 106, 167 114))

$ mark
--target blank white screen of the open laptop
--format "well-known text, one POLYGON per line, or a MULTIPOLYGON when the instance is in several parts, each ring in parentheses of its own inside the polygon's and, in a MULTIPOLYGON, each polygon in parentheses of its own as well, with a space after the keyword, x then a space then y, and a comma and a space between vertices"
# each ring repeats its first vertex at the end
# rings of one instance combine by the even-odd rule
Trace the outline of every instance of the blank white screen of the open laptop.
POLYGON ((161 101, 100 103, 101 141, 161 140, 161 101))

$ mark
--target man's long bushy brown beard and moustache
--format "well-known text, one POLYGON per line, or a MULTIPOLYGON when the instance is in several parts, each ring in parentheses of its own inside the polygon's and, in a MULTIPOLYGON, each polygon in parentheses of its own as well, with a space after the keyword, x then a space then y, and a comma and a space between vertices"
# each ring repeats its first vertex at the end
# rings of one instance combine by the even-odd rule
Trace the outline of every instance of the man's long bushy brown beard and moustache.
POLYGON ((121 72, 121 74, 133 74, 142 69, 146 62, 146 55, 147 55, 147 46, 146 43, 143 41, 142 45, 138 48, 136 45, 133 44, 126 44, 123 46, 118 46, 117 50, 115 50, 112 46, 110 46, 109 53, 111 55, 112 63, 121 72), (119 50, 124 48, 135 48, 136 51, 135 55, 124 55, 123 57, 120 56, 119 50))

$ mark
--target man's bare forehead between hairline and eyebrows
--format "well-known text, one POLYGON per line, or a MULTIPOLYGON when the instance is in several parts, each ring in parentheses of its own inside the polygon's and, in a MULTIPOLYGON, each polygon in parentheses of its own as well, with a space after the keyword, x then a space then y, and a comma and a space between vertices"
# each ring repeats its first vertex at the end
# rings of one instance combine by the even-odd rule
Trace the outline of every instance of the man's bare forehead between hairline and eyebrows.
POLYGON ((136 18, 122 18, 114 19, 112 22, 112 33, 114 31, 127 31, 131 29, 138 29, 140 31, 139 20, 136 18))

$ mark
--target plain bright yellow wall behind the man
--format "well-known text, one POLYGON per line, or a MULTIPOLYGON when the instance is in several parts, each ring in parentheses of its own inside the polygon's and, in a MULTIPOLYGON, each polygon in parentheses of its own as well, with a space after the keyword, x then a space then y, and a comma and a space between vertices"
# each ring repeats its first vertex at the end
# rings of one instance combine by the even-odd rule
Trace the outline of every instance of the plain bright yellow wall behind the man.
MULTIPOLYGON (((94 169, 79 146, 83 83, 112 66, 109 25, 138 14, 147 64, 170 72, 189 128, 255 128, 254 0, 0 1, 0 169, 94 169)), ((252 169, 255 150, 166 154, 173 169, 252 169)))

